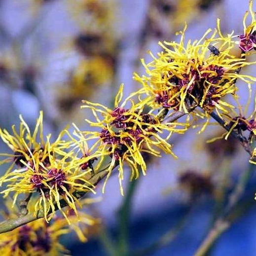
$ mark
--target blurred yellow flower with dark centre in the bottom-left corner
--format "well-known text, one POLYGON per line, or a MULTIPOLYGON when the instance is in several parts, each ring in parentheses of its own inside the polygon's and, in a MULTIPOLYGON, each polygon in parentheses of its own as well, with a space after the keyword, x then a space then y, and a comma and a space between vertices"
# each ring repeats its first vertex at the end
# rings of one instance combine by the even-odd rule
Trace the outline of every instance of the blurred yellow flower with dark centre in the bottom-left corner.
MULTIPOLYGON (((83 205, 87 202, 81 202, 83 205)), ((7 200, 7 212, 3 212, 4 219, 17 218, 18 209, 11 208, 7 200)), ((32 209, 30 209, 33 211, 32 209)), ((69 251, 60 243, 60 237, 75 231, 80 241, 86 241, 88 225, 94 225, 99 220, 93 219, 85 213, 79 213, 78 220, 72 213, 67 213, 72 224, 68 225, 63 218, 55 217, 51 222, 35 220, 10 232, 0 234, 0 253, 4 256, 57 256, 69 254, 69 251), (84 227, 81 226, 84 225, 84 227)))

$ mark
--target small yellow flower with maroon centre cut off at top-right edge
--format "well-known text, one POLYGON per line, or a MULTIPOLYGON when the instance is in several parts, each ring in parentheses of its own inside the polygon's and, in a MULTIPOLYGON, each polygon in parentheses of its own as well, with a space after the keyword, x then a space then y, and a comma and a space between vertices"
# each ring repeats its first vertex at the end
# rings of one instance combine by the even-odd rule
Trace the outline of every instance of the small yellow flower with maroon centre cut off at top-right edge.
POLYGON ((240 35, 240 43, 239 47, 242 50, 242 52, 249 52, 252 49, 256 49, 256 20, 255 20, 255 12, 253 11, 253 0, 250 0, 249 4, 250 14, 251 14, 251 24, 246 25, 246 20, 249 15, 249 12, 247 11, 244 16, 244 34, 240 35))

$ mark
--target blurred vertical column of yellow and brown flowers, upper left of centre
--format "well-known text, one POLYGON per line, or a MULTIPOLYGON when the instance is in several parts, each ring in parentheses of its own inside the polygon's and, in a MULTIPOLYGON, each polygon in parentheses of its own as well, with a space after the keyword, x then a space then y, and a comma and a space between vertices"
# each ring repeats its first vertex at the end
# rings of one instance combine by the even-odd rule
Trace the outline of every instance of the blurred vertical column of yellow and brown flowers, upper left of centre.
POLYGON ((55 89, 61 114, 73 114, 82 99, 90 99, 102 86, 110 86, 115 71, 118 36, 113 31, 112 0, 66 1, 80 31, 72 38, 70 49, 78 53, 77 63, 63 84, 55 89), (112 31, 112 33, 110 33, 112 31))

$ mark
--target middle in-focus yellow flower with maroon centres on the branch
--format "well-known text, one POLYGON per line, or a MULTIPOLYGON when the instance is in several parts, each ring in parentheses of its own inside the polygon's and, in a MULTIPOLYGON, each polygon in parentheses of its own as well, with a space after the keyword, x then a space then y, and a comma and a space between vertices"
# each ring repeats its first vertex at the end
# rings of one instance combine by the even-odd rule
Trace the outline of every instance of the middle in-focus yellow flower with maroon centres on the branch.
POLYGON ((132 97, 140 95, 139 92, 131 94, 123 101, 123 85, 115 97, 114 109, 109 109, 98 103, 85 103, 82 108, 89 108, 92 110, 96 121, 86 121, 93 127, 98 127, 99 131, 85 131, 83 132, 84 140, 95 140, 95 144, 90 148, 95 152, 85 158, 87 160, 92 157, 100 157, 96 170, 99 169, 106 156, 111 157, 109 166, 109 174, 104 183, 103 191, 111 170, 118 163, 119 164, 119 183, 120 190, 122 190, 123 180, 123 165, 126 162, 131 168, 131 179, 139 177, 139 170, 146 174, 146 163, 144 161, 142 152, 147 152, 152 155, 161 156, 159 151, 163 150, 165 153, 173 154, 172 145, 169 144, 168 139, 173 132, 183 133, 186 130, 186 124, 180 123, 165 123, 162 124, 159 120, 159 115, 153 114, 152 111, 145 113, 145 105, 147 98, 138 104, 135 104, 132 97), (126 105, 131 106, 129 109, 126 105), (100 117, 100 115, 102 117, 100 117), (177 126, 184 126, 178 128, 177 126), (163 135, 163 131, 167 131, 167 135, 163 135), (160 136, 161 135, 161 136, 160 136), (143 145, 146 147, 143 147, 143 145), (158 149, 157 149, 158 148, 158 149))

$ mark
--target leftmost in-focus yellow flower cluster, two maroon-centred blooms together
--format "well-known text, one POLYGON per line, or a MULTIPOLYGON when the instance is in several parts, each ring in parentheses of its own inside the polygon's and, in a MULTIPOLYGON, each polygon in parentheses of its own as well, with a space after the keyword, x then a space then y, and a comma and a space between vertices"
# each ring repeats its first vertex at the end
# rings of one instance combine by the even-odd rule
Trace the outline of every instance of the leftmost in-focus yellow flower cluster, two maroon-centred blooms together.
POLYGON ((44 218, 48 221, 53 215, 49 217, 47 215, 50 212, 54 214, 55 210, 59 209, 70 222, 62 210, 61 199, 78 215, 75 192, 94 193, 94 186, 88 181, 91 177, 91 169, 81 168, 81 165, 85 164, 84 160, 78 158, 70 148, 72 141, 66 142, 61 139, 64 132, 61 132, 54 143, 50 143, 50 135, 47 136, 46 143, 44 142, 42 112, 33 134, 21 116, 20 118, 19 134, 14 127, 14 135, 10 135, 6 130, 0 130, 2 140, 14 151, 1 161, 1 163, 12 162, 7 172, 0 178, 1 185, 8 183, 1 193, 5 197, 14 193, 13 204, 20 194, 36 194, 35 212, 43 209, 44 218), (39 142, 37 142, 38 130, 39 142), (68 153, 65 151, 67 148, 70 149, 68 153))

